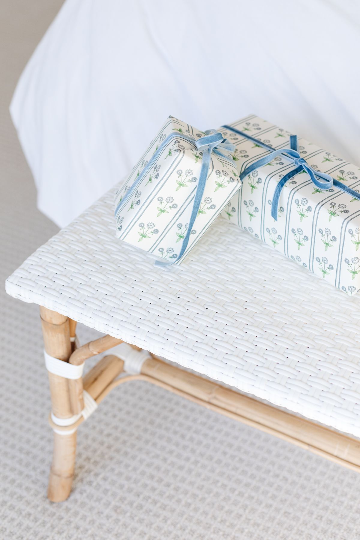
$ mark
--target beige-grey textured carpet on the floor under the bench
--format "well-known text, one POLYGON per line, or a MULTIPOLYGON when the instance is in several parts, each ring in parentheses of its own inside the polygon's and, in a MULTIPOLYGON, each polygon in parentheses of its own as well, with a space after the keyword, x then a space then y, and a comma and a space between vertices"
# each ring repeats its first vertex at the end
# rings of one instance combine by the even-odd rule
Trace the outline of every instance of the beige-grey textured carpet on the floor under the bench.
MULTIPOLYGON (((36 210, 8 105, 61 3, 1 3, 2 282, 57 231, 36 210)), ((3 287, 0 295, 1 539, 360 538, 360 475, 141 382, 112 393, 79 429, 70 500, 47 501, 52 434, 38 309, 3 287)))

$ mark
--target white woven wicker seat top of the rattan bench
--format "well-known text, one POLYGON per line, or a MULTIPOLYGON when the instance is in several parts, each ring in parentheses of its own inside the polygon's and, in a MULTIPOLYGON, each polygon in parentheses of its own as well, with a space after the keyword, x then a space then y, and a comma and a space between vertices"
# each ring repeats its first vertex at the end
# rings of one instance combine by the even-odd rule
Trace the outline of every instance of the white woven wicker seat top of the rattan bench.
POLYGON ((360 302, 225 219, 179 267, 114 234, 113 191, 6 281, 35 302, 360 436, 360 302))

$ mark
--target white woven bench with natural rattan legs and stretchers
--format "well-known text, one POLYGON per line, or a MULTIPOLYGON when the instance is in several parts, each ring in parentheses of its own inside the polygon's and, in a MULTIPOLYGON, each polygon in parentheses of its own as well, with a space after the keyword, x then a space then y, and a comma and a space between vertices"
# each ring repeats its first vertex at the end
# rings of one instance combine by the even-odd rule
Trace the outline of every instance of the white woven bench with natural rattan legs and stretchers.
POLYGON ((111 191, 31 255, 6 291, 42 306, 51 500, 70 493, 79 424, 112 388, 137 378, 360 470, 356 439, 157 358, 360 436, 359 301, 225 219, 179 267, 155 267, 115 238, 111 191), (106 336, 75 348, 76 321, 106 336), (114 349, 84 378, 72 367, 121 341, 134 347, 114 349), (130 375, 117 379, 124 369, 130 375))

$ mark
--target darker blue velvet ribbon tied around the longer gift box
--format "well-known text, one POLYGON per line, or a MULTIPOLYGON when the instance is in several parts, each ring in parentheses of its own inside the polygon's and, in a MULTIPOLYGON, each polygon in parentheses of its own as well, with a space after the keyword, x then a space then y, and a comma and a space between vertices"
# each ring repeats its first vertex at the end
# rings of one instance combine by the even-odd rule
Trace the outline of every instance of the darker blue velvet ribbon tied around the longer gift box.
POLYGON ((332 186, 335 186, 339 190, 351 195, 351 197, 355 197, 357 200, 360 200, 360 193, 357 193, 356 191, 352 190, 351 187, 345 186, 345 184, 343 184, 339 180, 332 178, 330 174, 315 171, 313 167, 310 167, 310 165, 308 165, 305 159, 300 156, 300 153, 298 151, 298 142, 297 142, 296 135, 290 135, 290 148, 281 148, 279 150, 274 150, 273 148, 271 148, 271 146, 268 146, 267 144, 262 143, 260 140, 257 140, 254 137, 251 137, 250 135, 248 135, 247 133, 244 133, 243 131, 239 131, 235 129, 235 127, 231 127, 227 125, 222 126, 222 127, 224 127, 225 129, 234 131, 235 133, 238 133, 242 137, 245 137, 248 140, 252 140, 255 144, 262 146, 264 149, 270 151, 270 154, 268 154, 267 156, 264 156, 258 159, 252 165, 249 165, 248 167, 244 168, 244 170, 240 174, 241 181, 252 171, 255 171, 255 169, 263 167, 264 165, 267 165, 276 156, 279 156, 279 154, 282 154, 285 158, 289 159, 290 161, 293 161, 295 168, 292 171, 288 172, 283 178, 279 180, 274 191, 273 201, 271 202, 271 216, 275 219, 275 221, 277 221, 277 209, 279 207, 279 199, 280 199, 282 188, 289 180, 291 180, 291 178, 293 178, 296 174, 302 171, 305 171, 308 173, 311 181, 313 181, 315 186, 318 187, 319 189, 329 190, 332 186))

